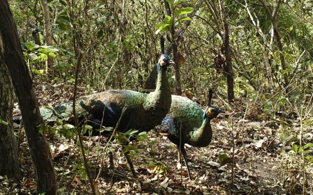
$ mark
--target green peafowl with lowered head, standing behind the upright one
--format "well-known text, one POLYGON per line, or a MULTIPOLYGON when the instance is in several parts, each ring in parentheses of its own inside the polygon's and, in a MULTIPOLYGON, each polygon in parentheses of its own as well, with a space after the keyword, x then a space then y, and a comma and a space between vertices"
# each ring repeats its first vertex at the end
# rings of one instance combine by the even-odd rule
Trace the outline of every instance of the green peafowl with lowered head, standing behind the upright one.
POLYGON ((210 90, 209 103, 204 112, 190 99, 173 95, 169 114, 161 125, 156 127, 157 132, 167 133, 168 139, 176 144, 179 154, 181 153, 184 158, 189 179, 191 174, 184 144, 195 147, 207 146, 212 139, 210 120, 223 112, 211 105, 212 93, 210 90))

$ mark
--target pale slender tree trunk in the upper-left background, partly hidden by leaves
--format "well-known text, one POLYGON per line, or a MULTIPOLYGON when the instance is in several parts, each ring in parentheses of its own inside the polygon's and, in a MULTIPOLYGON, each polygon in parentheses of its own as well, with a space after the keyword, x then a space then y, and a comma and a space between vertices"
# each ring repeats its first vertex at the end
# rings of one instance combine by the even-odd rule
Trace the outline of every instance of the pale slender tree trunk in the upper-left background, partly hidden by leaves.
MULTIPOLYGON (((50 25, 50 11, 47 0, 40 0, 41 7, 44 14, 44 25, 45 25, 45 44, 52 45, 52 33, 50 25)), ((48 60, 45 62, 45 73, 53 74, 53 59, 48 56, 48 60)))

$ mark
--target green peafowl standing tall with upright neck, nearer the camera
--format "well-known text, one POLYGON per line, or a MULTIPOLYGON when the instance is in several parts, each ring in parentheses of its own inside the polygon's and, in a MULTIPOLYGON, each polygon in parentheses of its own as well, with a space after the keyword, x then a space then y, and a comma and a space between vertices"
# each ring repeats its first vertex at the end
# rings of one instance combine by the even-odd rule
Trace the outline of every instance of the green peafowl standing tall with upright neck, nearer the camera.
MULTIPOLYGON (((126 108, 117 130, 126 132, 130 129, 148 132, 168 113, 171 106, 171 87, 166 77, 167 67, 174 64, 167 55, 162 54, 157 62, 156 90, 150 94, 139 93, 131 90, 110 90, 89 96, 77 98, 76 113, 79 121, 88 119, 88 124, 94 129, 101 126, 115 127, 122 111, 126 108)), ((72 101, 55 107, 54 113, 50 109, 41 109, 44 119, 50 117, 69 117, 72 115, 72 101), (55 116, 57 115, 57 116, 55 116)), ((67 121, 73 123, 73 121, 67 121)), ((98 136, 99 131, 92 131, 91 136, 98 136)), ((133 163, 124 153, 134 177, 133 163)), ((110 154, 110 162, 112 154, 110 154)), ((111 164, 112 167, 112 164, 111 164)))

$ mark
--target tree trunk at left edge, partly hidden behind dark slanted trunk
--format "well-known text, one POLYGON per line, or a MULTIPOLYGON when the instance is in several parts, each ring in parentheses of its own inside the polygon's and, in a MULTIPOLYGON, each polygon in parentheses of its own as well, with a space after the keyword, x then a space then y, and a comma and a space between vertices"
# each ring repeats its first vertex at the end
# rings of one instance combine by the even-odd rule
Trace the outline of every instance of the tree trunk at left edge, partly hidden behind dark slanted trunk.
POLYGON ((0 175, 18 180, 21 176, 18 143, 13 133, 13 86, 2 55, 0 39, 0 175))

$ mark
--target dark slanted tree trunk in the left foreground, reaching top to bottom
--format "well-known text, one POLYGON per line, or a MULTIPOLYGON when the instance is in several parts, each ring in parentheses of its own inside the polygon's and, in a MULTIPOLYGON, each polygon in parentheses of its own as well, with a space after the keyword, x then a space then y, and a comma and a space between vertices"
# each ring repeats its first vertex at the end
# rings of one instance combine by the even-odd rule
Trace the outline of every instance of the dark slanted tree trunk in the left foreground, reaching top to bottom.
POLYGON ((37 190, 55 195, 56 178, 49 146, 39 128, 43 125, 32 81, 23 59, 16 24, 7 0, 0 0, 0 39, 4 62, 11 75, 22 112, 30 153, 35 164, 37 190))

